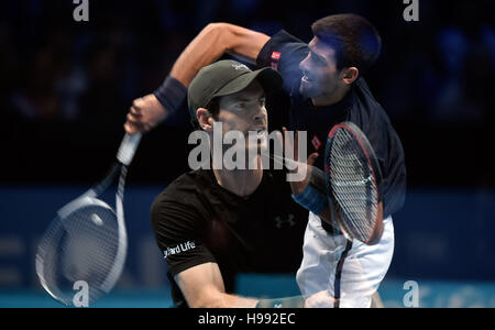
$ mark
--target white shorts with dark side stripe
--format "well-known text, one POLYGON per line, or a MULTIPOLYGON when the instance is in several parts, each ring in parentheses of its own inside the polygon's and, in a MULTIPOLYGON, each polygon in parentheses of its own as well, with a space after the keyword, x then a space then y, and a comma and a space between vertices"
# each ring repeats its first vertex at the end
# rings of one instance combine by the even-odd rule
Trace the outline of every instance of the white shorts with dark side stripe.
POLYGON ((310 212, 302 252, 297 284, 307 307, 369 308, 394 254, 392 217, 384 219, 381 241, 366 245, 327 232, 310 212))

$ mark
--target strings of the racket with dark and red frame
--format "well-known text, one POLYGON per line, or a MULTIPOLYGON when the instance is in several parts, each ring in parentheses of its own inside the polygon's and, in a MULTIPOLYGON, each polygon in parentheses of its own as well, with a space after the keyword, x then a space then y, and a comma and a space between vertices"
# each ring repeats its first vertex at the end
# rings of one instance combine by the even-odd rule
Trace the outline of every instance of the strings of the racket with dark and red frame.
POLYGON ((331 189, 359 237, 372 234, 375 180, 367 165, 367 157, 348 130, 339 130, 333 136, 330 156, 331 189))

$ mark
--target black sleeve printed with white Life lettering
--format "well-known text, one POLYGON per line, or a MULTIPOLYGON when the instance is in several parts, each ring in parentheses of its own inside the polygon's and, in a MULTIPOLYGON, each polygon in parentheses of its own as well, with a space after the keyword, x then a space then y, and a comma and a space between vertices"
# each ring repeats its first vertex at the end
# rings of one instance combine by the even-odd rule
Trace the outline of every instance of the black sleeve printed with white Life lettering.
POLYGON ((150 216, 156 242, 173 276, 216 262, 202 242, 206 221, 197 208, 161 196, 153 202, 150 216))

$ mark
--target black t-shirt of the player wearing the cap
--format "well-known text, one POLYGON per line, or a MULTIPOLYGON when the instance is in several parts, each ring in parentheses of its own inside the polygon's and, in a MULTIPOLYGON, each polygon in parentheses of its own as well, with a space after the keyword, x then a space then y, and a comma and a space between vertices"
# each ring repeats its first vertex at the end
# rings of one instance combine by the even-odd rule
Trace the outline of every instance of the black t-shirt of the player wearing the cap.
POLYGON ((307 219, 308 211, 292 199, 283 170, 265 170, 249 197, 219 186, 212 170, 182 175, 151 209, 174 301, 187 307, 173 277, 208 262, 219 265, 227 293, 233 293, 239 273, 295 273, 307 219))

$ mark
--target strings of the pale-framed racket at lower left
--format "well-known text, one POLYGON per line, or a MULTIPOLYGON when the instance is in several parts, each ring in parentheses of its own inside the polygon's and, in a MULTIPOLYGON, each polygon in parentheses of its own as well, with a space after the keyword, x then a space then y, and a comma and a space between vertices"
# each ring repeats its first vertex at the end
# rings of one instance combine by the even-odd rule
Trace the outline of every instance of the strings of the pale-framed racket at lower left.
POLYGON ((86 206, 56 221, 42 244, 42 277, 50 292, 70 305, 74 284, 88 284, 89 302, 103 292, 100 286, 114 264, 119 231, 112 210, 86 206))

